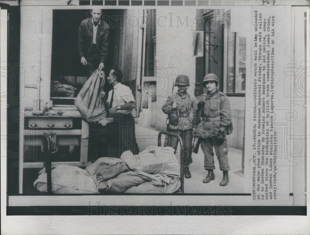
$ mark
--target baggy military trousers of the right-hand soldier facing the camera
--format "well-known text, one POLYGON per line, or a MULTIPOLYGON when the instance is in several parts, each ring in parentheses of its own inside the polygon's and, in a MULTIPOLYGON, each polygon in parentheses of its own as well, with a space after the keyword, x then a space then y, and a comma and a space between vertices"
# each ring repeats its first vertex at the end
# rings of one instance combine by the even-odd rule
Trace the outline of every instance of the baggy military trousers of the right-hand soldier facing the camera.
POLYGON ((214 165, 214 153, 213 146, 215 149, 215 154, 219 160, 219 169, 221 171, 229 171, 230 167, 228 164, 228 147, 227 141, 224 140, 222 144, 216 142, 216 138, 207 138, 201 140, 201 149, 205 155, 205 169, 215 169, 214 165))

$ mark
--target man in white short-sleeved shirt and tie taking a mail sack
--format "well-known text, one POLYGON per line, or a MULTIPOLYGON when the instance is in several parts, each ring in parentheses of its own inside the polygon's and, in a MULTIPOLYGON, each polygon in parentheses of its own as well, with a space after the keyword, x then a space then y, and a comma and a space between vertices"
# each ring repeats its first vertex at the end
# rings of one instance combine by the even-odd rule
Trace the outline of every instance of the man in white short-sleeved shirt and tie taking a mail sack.
POLYGON ((101 148, 105 148, 98 157, 106 155, 119 158, 127 150, 133 154, 139 153, 135 139, 135 120, 131 114, 135 108, 135 98, 130 88, 121 83, 122 79, 122 71, 118 68, 112 69, 107 78, 113 89, 109 91, 108 99, 104 102, 109 108, 108 113, 113 122, 108 122, 105 126, 101 126, 100 123, 94 124, 97 125, 95 128, 98 144, 101 148))

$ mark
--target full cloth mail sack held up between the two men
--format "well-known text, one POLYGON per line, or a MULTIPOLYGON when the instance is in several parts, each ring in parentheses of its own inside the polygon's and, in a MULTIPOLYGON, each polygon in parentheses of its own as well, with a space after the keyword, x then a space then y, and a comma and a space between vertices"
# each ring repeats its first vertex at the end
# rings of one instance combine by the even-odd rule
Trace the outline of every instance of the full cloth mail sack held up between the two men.
POLYGON ((76 105, 87 122, 98 122, 107 116, 104 102, 100 99, 103 86, 104 72, 95 70, 78 93, 76 105))

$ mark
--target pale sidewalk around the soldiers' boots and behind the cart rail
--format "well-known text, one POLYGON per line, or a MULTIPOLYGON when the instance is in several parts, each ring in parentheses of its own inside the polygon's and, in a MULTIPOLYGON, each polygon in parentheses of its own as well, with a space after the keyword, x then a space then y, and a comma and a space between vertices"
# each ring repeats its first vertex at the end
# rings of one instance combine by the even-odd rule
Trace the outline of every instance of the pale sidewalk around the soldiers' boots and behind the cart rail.
MULTIPOLYGON (((145 126, 135 126, 137 143, 140 151, 143 151, 149 145, 157 146, 157 136, 159 131, 145 126)), ((215 158, 215 180, 210 183, 202 183, 208 172, 204 169, 204 155, 199 148, 197 154, 192 154, 193 163, 190 164, 189 170, 192 174, 190 179, 184 179, 184 193, 243 193, 244 175, 241 173, 242 151, 236 148, 228 148, 228 161, 231 170, 229 174, 229 184, 227 186, 219 186, 223 173, 219 170, 219 162, 215 158)))

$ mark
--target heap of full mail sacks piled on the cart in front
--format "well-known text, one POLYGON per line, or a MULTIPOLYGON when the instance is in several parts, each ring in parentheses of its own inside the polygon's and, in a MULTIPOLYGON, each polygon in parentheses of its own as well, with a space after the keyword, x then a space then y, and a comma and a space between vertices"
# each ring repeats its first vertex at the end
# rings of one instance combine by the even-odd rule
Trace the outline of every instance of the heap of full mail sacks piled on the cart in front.
MULTIPOLYGON (((128 150, 123 152, 120 159, 99 158, 85 170, 55 165, 52 169, 52 191, 83 194, 174 193, 181 186, 180 159, 177 159, 174 152, 172 147, 149 146, 138 155, 128 150), (57 169, 60 166, 62 169, 57 169), (63 169, 66 167, 68 170, 63 169), (77 169, 74 171, 72 168, 77 169), (63 174, 59 174, 61 171, 63 174), (60 189, 62 187, 69 189, 60 189)), ((39 173, 34 186, 46 192, 46 173, 43 172, 45 169, 39 173)))

